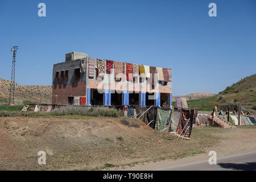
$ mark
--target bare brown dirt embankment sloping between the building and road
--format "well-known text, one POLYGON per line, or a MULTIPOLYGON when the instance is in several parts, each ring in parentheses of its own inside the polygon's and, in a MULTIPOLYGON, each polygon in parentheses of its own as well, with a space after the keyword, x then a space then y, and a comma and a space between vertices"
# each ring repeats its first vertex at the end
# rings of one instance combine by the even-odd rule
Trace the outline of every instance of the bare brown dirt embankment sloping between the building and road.
POLYGON ((103 169, 178 159, 201 154, 225 140, 225 132, 236 132, 196 127, 191 140, 177 140, 133 122, 140 127, 117 118, 0 118, 0 169, 103 169), (38 164, 39 151, 46 151, 46 165, 38 164))

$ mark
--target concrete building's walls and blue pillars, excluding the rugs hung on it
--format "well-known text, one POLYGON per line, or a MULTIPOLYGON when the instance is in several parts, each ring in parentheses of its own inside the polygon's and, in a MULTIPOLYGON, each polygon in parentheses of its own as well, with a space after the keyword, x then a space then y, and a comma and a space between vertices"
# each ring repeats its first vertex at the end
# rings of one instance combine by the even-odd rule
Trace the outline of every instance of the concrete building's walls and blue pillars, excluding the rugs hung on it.
POLYGON ((144 78, 141 77, 141 73, 133 77, 133 80, 127 81, 126 64, 122 63, 122 78, 116 80, 115 68, 112 69, 111 74, 108 74, 106 60, 100 59, 104 63, 104 75, 97 75, 96 61, 93 75, 90 70, 89 77, 89 66, 92 69, 89 59, 91 58, 86 53, 71 52, 66 54, 65 62, 53 65, 53 105, 72 104, 72 97, 83 97, 85 103, 82 105, 171 106, 172 80, 170 75, 168 75, 169 81, 158 81, 158 76, 155 74, 154 86, 152 86, 152 76, 144 78))

